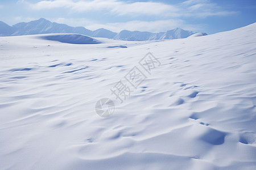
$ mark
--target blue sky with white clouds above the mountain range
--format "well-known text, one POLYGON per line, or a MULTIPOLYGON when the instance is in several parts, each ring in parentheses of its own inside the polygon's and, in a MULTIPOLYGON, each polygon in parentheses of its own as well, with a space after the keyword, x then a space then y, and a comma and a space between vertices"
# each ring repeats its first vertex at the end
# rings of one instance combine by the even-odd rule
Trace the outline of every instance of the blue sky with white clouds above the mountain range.
POLYGON ((256 22, 256 0, 0 0, 0 20, 13 25, 51 22, 113 32, 182 28, 208 34, 256 22))

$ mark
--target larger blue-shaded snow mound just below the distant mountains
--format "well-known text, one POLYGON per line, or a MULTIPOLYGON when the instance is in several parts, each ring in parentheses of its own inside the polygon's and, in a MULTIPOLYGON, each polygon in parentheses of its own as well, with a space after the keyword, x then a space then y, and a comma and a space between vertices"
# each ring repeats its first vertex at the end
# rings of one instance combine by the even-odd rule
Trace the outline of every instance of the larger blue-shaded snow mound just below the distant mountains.
POLYGON ((41 39, 65 42, 69 44, 100 44, 101 41, 80 34, 54 34, 39 36, 41 39))

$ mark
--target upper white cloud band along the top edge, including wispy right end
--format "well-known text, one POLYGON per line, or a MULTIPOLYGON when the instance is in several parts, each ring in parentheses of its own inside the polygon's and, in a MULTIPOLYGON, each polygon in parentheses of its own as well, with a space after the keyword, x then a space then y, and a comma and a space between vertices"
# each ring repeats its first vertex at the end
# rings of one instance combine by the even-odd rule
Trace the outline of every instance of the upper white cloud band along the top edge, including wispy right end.
MULTIPOLYGON (((24 3, 26 1, 22 0, 24 3)), ((160 2, 124 2, 117 0, 91 0, 72 1, 54 0, 30 3, 34 10, 68 8, 69 12, 89 12, 107 10, 115 15, 154 15, 171 18, 177 17, 201 17, 232 15, 234 11, 225 11, 209 0, 188 0, 177 5, 168 5, 160 2)))

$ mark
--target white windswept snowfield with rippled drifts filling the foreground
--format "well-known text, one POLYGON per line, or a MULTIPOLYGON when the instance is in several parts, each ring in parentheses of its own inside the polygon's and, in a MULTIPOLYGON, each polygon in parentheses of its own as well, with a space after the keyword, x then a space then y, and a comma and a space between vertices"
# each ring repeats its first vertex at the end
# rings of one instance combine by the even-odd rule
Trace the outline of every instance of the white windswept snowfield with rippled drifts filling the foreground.
POLYGON ((0 37, 0 169, 256 169, 255 23, 164 41, 38 36, 0 37), (148 52, 161 62, 151 74, 148 52), (147 76, 137 89, 134 66, 147 76))

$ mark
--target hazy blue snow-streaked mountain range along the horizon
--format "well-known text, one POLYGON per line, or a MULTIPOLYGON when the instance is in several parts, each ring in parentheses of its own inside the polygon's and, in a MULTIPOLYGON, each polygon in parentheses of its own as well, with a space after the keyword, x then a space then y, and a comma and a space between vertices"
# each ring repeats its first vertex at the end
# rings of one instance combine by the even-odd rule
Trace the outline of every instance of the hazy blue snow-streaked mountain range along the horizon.
MULTIPOLYGON (((85 27, 71 27, 66 24, 50 22, 44 18, 34 20, 28 23, 22 22, 10 26, 0 21, 0 36, 19 36, 19 35, 35 35, 43 33, 79 33, 91 37, 104 37, 108 39, 127 40, 127 41, 146 41, 146 40, 168 40, 183 39, 197 32, 185 31, 181 28, 171 29, 166 32, 141 32, 123 30, 119 33, 100 28, 95 31, 86 29, 85 27)), ((207 33, 203 33, 207 35, 207 33)))

